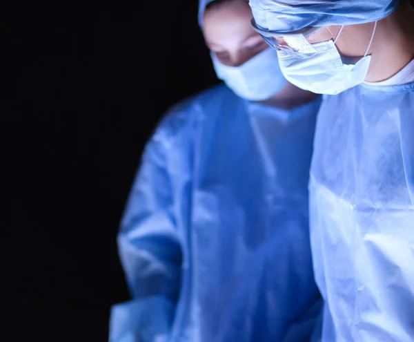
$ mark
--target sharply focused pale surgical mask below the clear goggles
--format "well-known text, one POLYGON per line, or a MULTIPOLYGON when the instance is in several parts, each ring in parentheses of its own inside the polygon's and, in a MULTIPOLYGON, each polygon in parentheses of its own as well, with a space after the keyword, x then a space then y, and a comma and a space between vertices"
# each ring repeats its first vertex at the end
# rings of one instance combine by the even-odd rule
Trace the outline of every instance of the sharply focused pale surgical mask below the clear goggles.
MULTIPOLYGON (((337 95, 353 88, 364 82, 371 63, 371 56, 367 56, 371 48, 377 22, 371 35, 366 53, 362 59, 353 64, 351 61, 346 63, 346 58, 341 57, 335 43, 342 32, 344 26, 335 41, 325 41, 318 44, 309 44, 308 53, 298 53, 297 51, 282 49, 277 50, 279 64, 286 79, 299 88, 313 93, 337 95)), ((302 40, 300 42, 304 44, 302 40)), ((291 42, 288 44, 292 44, 291 42)))

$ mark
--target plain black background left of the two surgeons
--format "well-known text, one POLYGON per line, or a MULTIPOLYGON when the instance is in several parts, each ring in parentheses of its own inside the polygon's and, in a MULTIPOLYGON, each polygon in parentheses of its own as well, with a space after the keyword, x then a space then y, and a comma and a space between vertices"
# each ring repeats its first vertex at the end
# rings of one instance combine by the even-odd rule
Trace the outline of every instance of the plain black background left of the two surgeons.
POLYGON ((124 6, 26 5, 1 24, 1 340, 108 339, 141 151, 169 106, 217 82, 197 0, 124 6))

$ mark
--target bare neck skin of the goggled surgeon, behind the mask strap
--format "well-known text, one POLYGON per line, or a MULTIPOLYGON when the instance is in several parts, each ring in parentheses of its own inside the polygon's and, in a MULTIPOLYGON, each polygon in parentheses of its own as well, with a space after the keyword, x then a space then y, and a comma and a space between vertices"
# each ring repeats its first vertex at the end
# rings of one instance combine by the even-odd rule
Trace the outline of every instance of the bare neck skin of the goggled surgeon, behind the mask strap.
POLYGON ((393 14, 378 21, 367 82, 389 79, 414 59, 413 20, 413 6, 402 0, 393 14))

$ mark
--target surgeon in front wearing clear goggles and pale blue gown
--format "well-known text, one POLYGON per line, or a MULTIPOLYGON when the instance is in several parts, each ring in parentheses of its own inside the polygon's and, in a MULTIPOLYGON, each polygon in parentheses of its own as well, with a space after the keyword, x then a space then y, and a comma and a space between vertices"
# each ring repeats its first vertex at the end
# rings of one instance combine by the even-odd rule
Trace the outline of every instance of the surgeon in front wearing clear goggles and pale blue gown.
POLYGON ((327 94, 311 167, 322 341, 414 341, 414 9, 250 0, 293 84, 327 94))

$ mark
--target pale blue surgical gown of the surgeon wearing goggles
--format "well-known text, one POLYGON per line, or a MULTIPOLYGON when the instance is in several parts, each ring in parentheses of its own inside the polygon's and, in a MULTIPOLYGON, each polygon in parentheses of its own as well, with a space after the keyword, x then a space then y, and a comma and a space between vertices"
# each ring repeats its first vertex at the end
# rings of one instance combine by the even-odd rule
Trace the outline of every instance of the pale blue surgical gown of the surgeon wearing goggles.
POLYGON ((322 341, 413 341, 414 84, 326 96, 314 148, 322 341))

